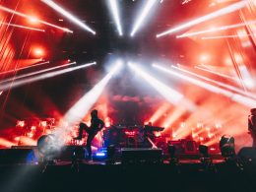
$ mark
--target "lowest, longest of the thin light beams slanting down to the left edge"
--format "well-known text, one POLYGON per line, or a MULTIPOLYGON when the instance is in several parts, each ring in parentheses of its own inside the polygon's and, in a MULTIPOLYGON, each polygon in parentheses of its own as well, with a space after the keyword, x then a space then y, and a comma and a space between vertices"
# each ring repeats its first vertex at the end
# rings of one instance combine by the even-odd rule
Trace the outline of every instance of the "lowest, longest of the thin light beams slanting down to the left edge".
POLYGON ((1 91, 5 91, 5 90, 9 90, 10 88, 17 88, 17 87, 21 87, 27 84, 30 84, 32 82, 37 82, 37 81, 41 81, 41 80, 45 80, 48 78, 53 78, 62 74, 66 74, 66 73, 70 73, 79 69, 83 69, 92 65, 96 65, 96 62, 94 63, 89 63, 89 64, 84 64, 84 65, 80 65, 77 67, 73 67, 73 68, 68 68, 68 69, 63 69, 63 70, 59 70, 59 71, 53 71, 53 72, 49 72, 49 73, 44 73, 35 77, 31 77, 31 78, 25 78, 16 82, 10 82, 4 85, 0 86, 0 90, 1 91))

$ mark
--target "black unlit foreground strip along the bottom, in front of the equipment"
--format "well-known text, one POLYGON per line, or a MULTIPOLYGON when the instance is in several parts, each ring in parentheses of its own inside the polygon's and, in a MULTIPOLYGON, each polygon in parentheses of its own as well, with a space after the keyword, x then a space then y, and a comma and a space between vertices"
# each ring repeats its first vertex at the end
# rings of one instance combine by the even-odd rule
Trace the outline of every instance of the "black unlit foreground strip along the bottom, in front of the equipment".
POLYGON ((82 161, 79 171, 71 161, 48 165, 0 165, 0 191, 249 191, 255 192, 256 166, 215 163, 215 169, 197 161, 178 166, 162 164, 105 164, 82 161))

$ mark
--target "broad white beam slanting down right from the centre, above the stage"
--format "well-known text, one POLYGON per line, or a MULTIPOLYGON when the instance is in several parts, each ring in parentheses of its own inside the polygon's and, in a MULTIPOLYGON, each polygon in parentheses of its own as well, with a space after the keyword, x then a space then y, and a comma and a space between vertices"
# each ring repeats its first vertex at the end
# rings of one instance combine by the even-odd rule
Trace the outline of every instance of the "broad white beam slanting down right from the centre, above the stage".
POLYGON ((160 93, 161 96, 163 96, 170 103, 177 105, 182 102, 186 104, 186 107, 190 111, 194 111, 196 109, 195 104, 192 103, 190 100, 186 99, 183 95, 181 95, 177 91, 167 87, 166 85, 161 83, 159 80, 157 80, 156 78, 146 73, 137 65, 129 62, 128 66, 133 71, 135 71, 138 75, 140 75, 144 80, 146 80, 154 89, 156 89, 156 91, 160 93))

